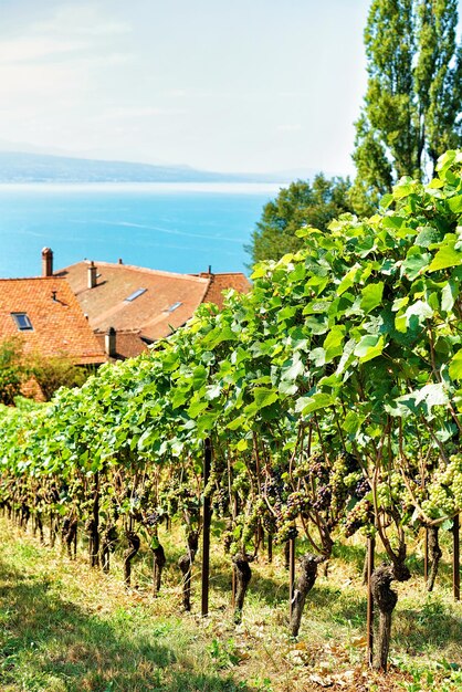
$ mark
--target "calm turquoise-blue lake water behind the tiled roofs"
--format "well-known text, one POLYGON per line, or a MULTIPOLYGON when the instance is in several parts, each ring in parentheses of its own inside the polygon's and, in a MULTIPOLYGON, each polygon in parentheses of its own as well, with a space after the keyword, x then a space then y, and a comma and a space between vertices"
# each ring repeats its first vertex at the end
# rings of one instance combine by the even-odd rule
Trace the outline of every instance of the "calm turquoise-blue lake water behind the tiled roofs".
POLYGON ((0 277, 83 259, 171 272, 248 271, 244 244, 282 185, 95 184, 0 186, 0 277))

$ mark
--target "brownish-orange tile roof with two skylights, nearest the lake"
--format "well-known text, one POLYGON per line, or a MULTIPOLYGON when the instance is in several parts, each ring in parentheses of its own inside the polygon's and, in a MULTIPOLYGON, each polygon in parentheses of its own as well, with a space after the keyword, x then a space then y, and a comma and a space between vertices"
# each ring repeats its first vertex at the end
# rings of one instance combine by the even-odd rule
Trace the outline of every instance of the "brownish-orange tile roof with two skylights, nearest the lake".
MULTIPOLYGON (((220 286, 228 287, 225 276, 241 285, 238 276, 243 274, 176 274, 129 264, 95 262, 96 285, 88 287, 92 264, 77 262, 56 273, 72 286, 82 310, 88 316, 95 332, 104 333, 109 327, 116 332, 137 331, 148 340, 171 334, 192 316, 206 300, 221 303, 220 286), (212 277, 223 276, 217 282, 212 297, 208 297, 212 277), (137 297, 127 301, 135 292, 137 297)), ((249 282, 243 277, 249 290, 249 282)), ((239 290, 239 287, 238 287, 239 290)))

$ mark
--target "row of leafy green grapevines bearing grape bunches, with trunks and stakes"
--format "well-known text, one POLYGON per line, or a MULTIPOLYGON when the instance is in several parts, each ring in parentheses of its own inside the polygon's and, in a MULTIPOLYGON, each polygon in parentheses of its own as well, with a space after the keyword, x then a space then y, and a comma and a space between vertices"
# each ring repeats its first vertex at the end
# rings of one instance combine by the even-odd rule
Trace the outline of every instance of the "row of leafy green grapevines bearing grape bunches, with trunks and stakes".
POLYGON ((428 590, 450 532, 460 597, 461 218, 462 153, 449 151, 430 185, 402 179, 367 221, 301 229, 304 249, 258 264, 250 294, 201 306, 149 354, 50 403, 3 407, 6 514, 71 557, 84 533, 105 573, 122 552, 127 586, 150 553, 159 597, 160 537, 181 526, 182 608, 200 551, 204 616, 212 536, 232 566, 237 625, 252 563, 277 549, 293 638, 318 570, 356 535, 368 547, 367 657, 385 672, 391 584, 410 579, 419 532, 428 590))

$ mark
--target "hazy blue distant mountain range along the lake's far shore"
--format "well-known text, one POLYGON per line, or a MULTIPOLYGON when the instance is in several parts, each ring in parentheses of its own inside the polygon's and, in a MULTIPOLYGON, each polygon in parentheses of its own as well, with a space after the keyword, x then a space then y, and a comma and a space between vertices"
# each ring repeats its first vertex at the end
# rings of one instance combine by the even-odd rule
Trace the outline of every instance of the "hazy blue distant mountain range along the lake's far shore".
MULTIPOLYGON (((306 171, 308 172, 308 171, 306 171)), ((313 171, 313 175, 316 171, 313 171)), ((27 151, 0 151, 0 182, 288 182, 284 174, 222 174, 27 151)))

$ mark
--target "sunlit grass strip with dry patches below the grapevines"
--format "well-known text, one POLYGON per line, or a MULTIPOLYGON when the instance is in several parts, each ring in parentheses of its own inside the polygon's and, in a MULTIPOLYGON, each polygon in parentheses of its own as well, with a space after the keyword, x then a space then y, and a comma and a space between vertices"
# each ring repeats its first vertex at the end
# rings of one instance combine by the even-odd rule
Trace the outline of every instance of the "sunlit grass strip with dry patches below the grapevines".
MULTIPOLYGON (((180 612, 178 535, 162 536, 169 557, 158 598, 150 594, 149 555, 134 564, 127 590, 120 565, 101 574, 84 554, 71 562, 0 520, 0 690, 2 692, 309 692, 408 690, 455 692, 462 685, 462 612, 450 570, 433 594, 418 575, 398 585, 390 674, 364 665, 364 549, 336 549, 328 577, 309 595, 296 642, 286 633, 287 574, 252 565, 241 626, 232 625, 229 558, 214 546, 210 616, 180 612), (175 559, 171 557, 175 556, 175 559)), ((301 546, 303 548, 303 546, 301 546)), ((416 564, 419 556, 414 557, 416 564)), ((448 563, 448 560, 447 560, 448 563)))

